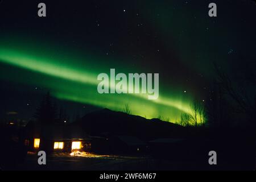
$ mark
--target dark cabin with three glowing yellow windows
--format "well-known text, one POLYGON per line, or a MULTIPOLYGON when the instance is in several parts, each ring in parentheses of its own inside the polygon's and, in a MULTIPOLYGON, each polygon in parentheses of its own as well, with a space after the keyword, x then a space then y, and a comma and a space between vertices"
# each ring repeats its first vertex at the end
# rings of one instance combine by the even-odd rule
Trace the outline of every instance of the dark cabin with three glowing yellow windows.
POLYGON ((91 139, 79 129, 60 124, 40 125, 30 122, 23 136, 28 151, 52 152, 90 152, 91 139))

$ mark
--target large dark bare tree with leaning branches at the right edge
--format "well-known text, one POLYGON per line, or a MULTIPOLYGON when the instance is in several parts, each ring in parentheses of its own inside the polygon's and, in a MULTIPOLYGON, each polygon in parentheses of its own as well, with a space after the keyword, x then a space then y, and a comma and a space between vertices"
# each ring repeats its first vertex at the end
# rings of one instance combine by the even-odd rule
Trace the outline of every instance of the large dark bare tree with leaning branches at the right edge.
POLYGON ((214 63, 214 68, 218 76, 226 98, 233 101, 234 113, 243 113, 249 121, 255 122, 256 113, 256 61, 241 59, 236 64, 232 64, 233 72, 227 73, 214 63))

